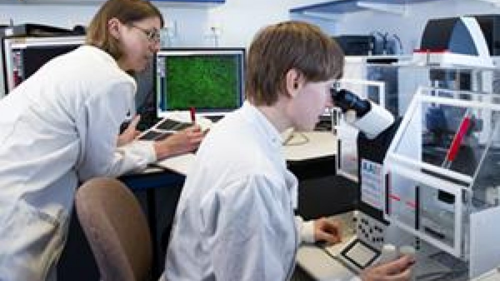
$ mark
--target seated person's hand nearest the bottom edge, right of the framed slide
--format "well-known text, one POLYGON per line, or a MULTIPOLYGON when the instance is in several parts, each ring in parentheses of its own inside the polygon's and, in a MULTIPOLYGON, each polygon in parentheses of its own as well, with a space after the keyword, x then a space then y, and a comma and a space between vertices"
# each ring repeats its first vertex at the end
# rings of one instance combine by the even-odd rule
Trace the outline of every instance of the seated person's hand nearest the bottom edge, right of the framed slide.
POLYGON ((360 277, 363 281, 408 281, 414 262, 412 257, 403 255, 396 260, 364 269, 360 277))

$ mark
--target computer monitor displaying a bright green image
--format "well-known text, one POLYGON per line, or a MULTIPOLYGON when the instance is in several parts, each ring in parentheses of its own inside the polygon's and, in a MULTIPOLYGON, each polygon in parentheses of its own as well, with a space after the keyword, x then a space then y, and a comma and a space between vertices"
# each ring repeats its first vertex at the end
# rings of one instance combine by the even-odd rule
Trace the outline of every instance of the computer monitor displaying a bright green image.
POLYGON ((167 48, 155 57, 156 113, 222 116, 244 100, 244 48, 167 48))

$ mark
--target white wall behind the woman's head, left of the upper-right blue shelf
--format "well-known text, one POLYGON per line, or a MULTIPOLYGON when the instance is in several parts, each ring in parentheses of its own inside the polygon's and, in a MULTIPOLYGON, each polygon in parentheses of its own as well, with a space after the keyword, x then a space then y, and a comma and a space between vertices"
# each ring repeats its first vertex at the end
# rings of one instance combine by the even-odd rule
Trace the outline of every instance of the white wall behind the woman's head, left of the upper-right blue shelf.
MULTIPOLYGON (((69 1, 69 0, 68 0, 69 1)), ((75 0, 78 1, 78 0, 75 0)), ((217 27, 220 46, 245 46, 263 25, 289 18, 288 9, 315 0, 226 0, 214 7, 168 7, 156 3, 169 26, 173 46, 213 44, 210 26, 217 27), (173 29, 173 28, 172 28, 173 29)), ((32 22, 59 27, 87 25, 98 5, 0 5, 0 24, 32 22)))

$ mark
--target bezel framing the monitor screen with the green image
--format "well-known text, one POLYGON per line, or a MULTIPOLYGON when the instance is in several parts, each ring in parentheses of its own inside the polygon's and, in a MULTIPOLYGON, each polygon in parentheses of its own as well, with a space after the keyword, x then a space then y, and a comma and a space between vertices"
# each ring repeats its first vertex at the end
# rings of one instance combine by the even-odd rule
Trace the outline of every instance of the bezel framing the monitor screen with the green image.
MULTIPOLYGON (((217 117, 223 116, 240 107, 245 99, 244 88, 244 69, 246 63, 246 49, 244 47, 175 47, 175 48, 161 48, 156 52, 153 60, 153 91, 156 105, 156 117, 164 117, 168 115, 170 110, 161 110, 159 106, 159 96, 157 89, 157 58, 158 56, 178 56, 178 55, 203 55, 203 54, 238 54, 240 57, 239 65, 239 89, 238 89, 238 106, 235 108, 196 108, 196 115, 217 117)), ((189 108, 171 109, 174 111, 185 111, 189 108)))

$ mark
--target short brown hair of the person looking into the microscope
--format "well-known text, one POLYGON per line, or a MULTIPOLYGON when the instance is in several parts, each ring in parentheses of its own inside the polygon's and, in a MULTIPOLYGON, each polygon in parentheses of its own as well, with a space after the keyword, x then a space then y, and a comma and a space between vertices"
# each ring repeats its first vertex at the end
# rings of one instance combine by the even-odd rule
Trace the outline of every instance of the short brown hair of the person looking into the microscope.
POLYGON ((342 75, 344 55, 319 27, 285 21, 260 30, 248 48, 246 96, 255 105, 272 105, 285 93, 285 75, 294 68, 305 81, 326 81, 342 75))

